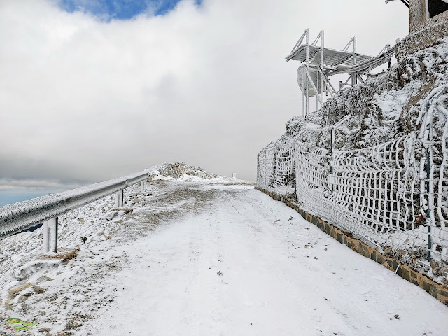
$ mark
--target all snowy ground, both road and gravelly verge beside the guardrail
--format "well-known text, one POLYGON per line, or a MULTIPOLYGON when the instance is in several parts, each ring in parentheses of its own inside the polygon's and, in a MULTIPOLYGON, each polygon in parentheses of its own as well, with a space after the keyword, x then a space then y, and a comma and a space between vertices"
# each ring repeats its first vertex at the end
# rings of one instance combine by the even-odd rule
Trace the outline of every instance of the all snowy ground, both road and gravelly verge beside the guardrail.
POLYGON ((75 258, 42 258, 39 230, 1 239, 1 321, 37 320, 18 335, 447 335, 448 307, 248 183, 160 178, 125 197, 132 212, 106 197, 62 218, 75 258))

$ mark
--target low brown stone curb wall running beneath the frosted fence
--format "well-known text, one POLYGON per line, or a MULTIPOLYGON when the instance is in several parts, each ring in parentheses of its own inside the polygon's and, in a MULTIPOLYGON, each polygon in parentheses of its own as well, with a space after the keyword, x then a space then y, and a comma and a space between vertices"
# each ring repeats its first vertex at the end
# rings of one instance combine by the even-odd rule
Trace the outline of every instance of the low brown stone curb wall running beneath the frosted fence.
POLYGON ((386 255, 379 252, 376 248, 372 248, 363 243, 363 241, 354 238, 353 235, 351 235, 349 232, 339 230, 330 223, 323 221, 321 218, 308 214, 307 211, 303 211, 302 209, 300 209, 300 207, 297 206, 297 204, 293 204, 288 199, 286 199, 286 197, 276 195, 275 193, 262 188, 255 187, 255 189, 260 190, 262 193, 269 195, 274 200, 281 201, 288 205, 288 207, 295 209, 295 211, 302 215, 304 219, 316 225, 327 235, 330 235, 331 237, 339 241, 339 243, 346 245, 351 250, 365 256, 365 258, 370 258, 378 262, 379 264, 383 265, 393 272, 396 271, 396 273, 403 279, 406 279, 407 281, 414 283, 414 285, 423 288, 430 295, 448 306, 448 287, 442 286, 439 283, 435 283, 426 275, 419 273, 418 271, 412 269, 407 265, 400 265, 398 260, 386 257, 386 255))

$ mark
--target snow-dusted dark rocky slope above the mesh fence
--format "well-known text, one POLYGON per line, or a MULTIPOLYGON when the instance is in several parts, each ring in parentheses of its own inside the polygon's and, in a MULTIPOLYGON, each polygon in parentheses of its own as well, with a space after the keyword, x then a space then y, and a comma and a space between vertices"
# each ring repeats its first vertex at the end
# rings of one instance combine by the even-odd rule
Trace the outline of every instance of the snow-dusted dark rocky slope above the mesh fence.
POLYGON ((403 57, 389 71, 370 76, 365 83, 346 87, 329 99, 321 111, 306 120, 293 117, 283 137, 298 137, 309 146, 330 148, 328 127, 337 127, 336 149, 360 149, 419 130, 422 104, 436 87, 448 83, 448 38, 433 47, 403 57))

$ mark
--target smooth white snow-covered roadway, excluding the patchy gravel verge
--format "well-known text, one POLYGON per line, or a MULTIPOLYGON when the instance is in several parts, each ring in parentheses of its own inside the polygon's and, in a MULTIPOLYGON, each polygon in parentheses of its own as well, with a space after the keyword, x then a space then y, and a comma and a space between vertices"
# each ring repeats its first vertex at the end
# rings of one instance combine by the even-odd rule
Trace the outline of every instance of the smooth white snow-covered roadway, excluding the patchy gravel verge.
POLYGON ((117 297, 75 335, 447 335, 448 307, 281 202, 194 188, 200 211, 114 247, 117 297))

